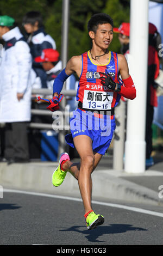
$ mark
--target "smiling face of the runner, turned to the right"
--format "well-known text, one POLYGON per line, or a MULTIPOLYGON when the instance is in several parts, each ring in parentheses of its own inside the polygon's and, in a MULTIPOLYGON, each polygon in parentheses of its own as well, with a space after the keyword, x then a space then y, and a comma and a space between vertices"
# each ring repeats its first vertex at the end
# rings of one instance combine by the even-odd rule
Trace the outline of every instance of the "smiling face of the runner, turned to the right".
POLYGON ((109 23, 98 25, 94 34, 95 44, 103 49, 107 49, 113 38, 112 26, 109 23))

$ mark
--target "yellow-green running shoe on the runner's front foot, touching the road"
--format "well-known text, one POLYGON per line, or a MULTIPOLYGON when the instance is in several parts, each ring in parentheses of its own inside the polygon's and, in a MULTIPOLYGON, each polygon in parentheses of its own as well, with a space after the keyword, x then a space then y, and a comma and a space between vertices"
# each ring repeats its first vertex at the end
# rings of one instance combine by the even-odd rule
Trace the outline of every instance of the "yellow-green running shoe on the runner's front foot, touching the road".
POLYGON ((90 214, 86 217, 86 226, 87 229, 96 228, 98 225, 102 225, 104 223, 104 216, 100 214, 95 214, 94 211, 91 211, 90 214))

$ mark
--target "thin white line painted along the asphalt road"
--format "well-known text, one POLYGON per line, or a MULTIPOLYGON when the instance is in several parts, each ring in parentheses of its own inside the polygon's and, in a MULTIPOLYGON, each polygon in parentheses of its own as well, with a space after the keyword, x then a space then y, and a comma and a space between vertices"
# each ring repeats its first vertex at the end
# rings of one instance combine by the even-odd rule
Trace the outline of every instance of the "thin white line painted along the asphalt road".
MULTIPOLYGON (((29 191, 22 191, 22 190, 10 190, 10 189, 4 189, 3 191, 10 192, 10 193, 21 193, 21 194, 29 194, 32 196, 51 197, 51 198, 57 198, 57 199, 65 199, 65 200, 71 200, 71 201, 76 201, 76 202, 82 202, 82 199, 80 199, 80 198, 58 196, 55 194, 46 194, 46 193, 37 193, 37 192, 29 192, 29 191)), ((109 207, 120 208, 120 209, 124 209, 124 210, 129 210, 129 211, 136 211, 136 212, 140 212, 142 214, 149 214, 149 215, 153 215, 153 216, 163 217, 163 213, 161 213, 161 212, 145 210, 145 209, 122 205, 122 204, 105 203, 105 202, 99 202, 99 201, 95 201, 95 200, 92 200, 92 203, 99 204, 99 205, 105 205, 105 206, 109 206, 109 207)))

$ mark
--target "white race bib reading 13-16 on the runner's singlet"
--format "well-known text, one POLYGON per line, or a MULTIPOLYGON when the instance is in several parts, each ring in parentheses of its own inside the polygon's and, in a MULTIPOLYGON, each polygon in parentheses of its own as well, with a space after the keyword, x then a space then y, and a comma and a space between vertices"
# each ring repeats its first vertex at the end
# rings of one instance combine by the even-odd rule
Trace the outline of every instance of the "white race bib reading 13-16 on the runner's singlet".
POLYGON ((114 92, 84 90, 83 108, 110 110, 114 92))

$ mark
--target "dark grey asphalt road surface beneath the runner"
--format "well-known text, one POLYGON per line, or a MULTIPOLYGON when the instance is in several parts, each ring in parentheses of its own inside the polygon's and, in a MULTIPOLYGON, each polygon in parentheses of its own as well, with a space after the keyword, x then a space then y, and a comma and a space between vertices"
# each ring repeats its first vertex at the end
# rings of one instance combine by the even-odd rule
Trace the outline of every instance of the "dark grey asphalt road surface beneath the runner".
POLYGON ((4 192, 0 198, 0 245, 163 245, 163 207, 130 206, 162 216, 93 203, 105 222, 87 230, 82 202, 4 192))

